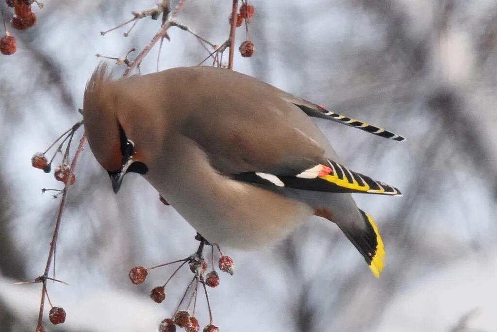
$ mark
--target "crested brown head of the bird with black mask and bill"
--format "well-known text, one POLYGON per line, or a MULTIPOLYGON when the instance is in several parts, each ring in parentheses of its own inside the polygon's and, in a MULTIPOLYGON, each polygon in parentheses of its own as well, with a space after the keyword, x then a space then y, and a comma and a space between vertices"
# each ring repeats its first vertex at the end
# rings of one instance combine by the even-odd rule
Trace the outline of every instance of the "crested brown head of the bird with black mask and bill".
MULTIPOLYGON (((86 85, 83 123, 88 144, 98 163, 108 172, 115 193, 129 172, 146 174, 153 148, 160 145, 155 128, 160 119, 148 114, 144 87, 139 91, 126 80, 113 81, 100 64, 86 85)), ((133 80, 131 80, 133 81, 133 80)))

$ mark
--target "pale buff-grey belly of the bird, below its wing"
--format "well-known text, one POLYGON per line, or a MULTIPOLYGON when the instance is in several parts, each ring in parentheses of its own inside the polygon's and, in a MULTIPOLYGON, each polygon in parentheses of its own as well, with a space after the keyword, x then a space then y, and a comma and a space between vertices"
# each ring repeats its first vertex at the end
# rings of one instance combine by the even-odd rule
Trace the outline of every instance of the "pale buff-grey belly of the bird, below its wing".
POLYGON ((208 191, 188 181, 149 182, 193 228, 219 245, 272 245, 314 214, 303 202, 221 175, 208 191))

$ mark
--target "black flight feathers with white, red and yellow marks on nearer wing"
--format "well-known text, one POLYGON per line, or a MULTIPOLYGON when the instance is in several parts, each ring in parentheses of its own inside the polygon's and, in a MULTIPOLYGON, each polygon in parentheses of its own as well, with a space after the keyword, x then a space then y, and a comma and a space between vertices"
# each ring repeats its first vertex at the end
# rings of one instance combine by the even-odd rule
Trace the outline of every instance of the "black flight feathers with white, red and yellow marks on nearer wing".
POLYGON ((373 180, 330 159, 327 159, 327 164, 316 164, 294 175, 288 175, 288 172, 279 175, 260 171, 234 174, 233 178, 239 181, 303 190, 402 196, 400 190, 394 186, 373 180))

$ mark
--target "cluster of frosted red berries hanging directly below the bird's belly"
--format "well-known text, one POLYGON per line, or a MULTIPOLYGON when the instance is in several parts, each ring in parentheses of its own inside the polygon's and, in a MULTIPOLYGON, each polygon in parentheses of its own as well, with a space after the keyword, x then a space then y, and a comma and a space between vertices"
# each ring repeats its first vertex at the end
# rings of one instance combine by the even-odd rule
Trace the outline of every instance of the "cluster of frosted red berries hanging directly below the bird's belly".
MULTIPOLYGON (((213 269, 209 273, 206 274, 205 279, 204 279, 204 273, 207 271, 207 261, 197 255, 192 255, 184 260, 179 260, 171 263, 177 263, 177 262, 183 262, 182 265, 176 269, 176 271, 171 275, 171 277, 174 276, 174 274, 186 263, 188 263, 188 267, 190 268, 190 271, 194 274, 194 277, 190 284, 188 285, 186 291, 185 291, 185 296, 188 290, 190 289, 190 286, 193 284, 194 281, 196 281, 196 287, 194 288, 193 294, 191 294, 190 297, 190 303, 188 303, 188 306, 186 307, 186 310, 180 310, 176 311, 172 318, 166 318, 164 319, 161 324, 159 325, 159 332, 175 332, 176 327, 179 328, 184 328, 186 332, 198 332, 200 329, 200 326, 198 324, 197 319, 195 318, 195 304, 196 304, 196 298, 197 298, 197 290, 198 290, 198 283, 200 282, 201 284, 209 287, 217 287, 219 285, 219 275, 218 273, 214 270, 214 264, 213 264, 213 269), (189 307, 191 304, 191 299, 195 298, 194 305, 193 305, 193 310, 190 315, 189 312, 189 307)), ((155 269, 157 267, 162 267, 165 265, 169 265, 171 263, 166 263, 163 265, 159 265, 156 267, 152 268, 145 268, 143 266, 136 266, 133 269, 130 270, 129 272, 129 278, 131 282, 134 284, 141 284, 145 281, 145 279, 148 276, 148 273, 150 270, 155 269)), ((235 271, 235 263, 233 262, 233 259, 229 256, 221 256, 218 261, 218 267, 221 271, 227 272, 230 275, 233 275, 235 271)), ((171 277, 168 278, 167 281, 171 279, 171 277)), ((162 286, 157 286, 152 289, 150 292, 150 297, 154 302, 161 303, 166 299, 166 291, 165 287, 167 284, 167 281, 164 285, 162 286)), ((206 292, 207 296, 207 292, 206 292)), ((183 296, 184 298, 184 296, 183 296)), ((181 305, 183 300, 178 305, 181 305)), ((208 302, 207 302, 208 303, 208 302)), ((176 309, 177 310, 177 309, 176 309)), ((209 307, 209 312, 210 312, 210 307, 209 307)), ((202 330, 203 332, 219 332, 219 328, 216 327, 215 325, 212 324, 212 316, 211 316, 211 323, 207 326, 204 327, 202 330)))

